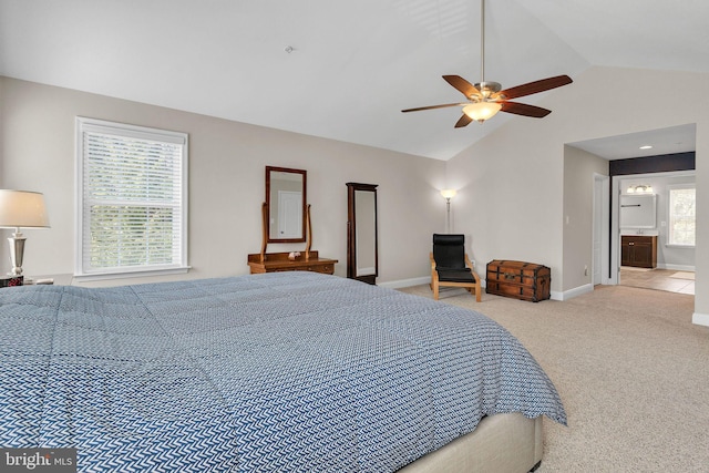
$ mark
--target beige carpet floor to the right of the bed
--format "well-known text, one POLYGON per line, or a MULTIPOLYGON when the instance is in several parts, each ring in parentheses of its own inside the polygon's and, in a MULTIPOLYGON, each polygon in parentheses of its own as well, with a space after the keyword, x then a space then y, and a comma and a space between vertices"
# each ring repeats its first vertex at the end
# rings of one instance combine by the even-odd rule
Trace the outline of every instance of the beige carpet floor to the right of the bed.
POLYGON ((500 322, 554 381, 568 426, 545 419, 538 472, 709 472, 709 328, 691 323, 692 296, 606 286, 564 302, 441 301, 500 322))

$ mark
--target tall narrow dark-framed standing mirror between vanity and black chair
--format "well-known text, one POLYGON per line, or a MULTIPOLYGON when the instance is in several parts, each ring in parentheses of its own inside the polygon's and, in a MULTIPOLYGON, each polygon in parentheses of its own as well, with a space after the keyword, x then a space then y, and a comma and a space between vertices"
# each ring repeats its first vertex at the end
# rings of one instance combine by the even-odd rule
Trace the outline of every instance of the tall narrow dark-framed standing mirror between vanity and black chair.
POLYGON ((347 183, 347 277, 377 284, 377 184, 347 183))

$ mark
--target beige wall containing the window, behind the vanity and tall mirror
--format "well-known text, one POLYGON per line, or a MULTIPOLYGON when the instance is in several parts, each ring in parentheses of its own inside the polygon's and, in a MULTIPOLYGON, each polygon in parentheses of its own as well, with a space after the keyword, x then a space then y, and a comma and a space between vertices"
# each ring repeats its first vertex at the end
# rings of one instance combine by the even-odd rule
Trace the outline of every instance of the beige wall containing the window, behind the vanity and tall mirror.
MULTIPOLYGON (((248 273, 261 241, 265 166, 308 171, 312 249, 346 275, 348 182, 379 184, 379 281, 429 274, 433 232, 445 225, 445 163, 383 150, 0 78, 0 187, 43 192, 51 229, 27 230, 28 275, 70 274, 74 265, 74 119, 88 116, 189 134, 187 276, 248 273)), ((7 234, 7 230, 3 230, 7 234)), ((269 251, 304 244, 269 245, 269 251)), ((0 270, 9 270, 4 238, 0 270)), ((142 282, 112 280, 91 285, 142 282)), ((89 285, 89 284, 86 284, 89 285)))

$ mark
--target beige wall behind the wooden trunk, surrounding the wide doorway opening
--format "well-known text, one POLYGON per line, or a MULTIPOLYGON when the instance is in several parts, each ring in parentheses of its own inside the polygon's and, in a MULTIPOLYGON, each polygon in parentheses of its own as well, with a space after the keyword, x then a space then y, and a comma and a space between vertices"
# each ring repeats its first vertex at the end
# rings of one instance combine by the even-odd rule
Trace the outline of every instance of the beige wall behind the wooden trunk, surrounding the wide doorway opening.
MULTIPOLYGON (((470 235, 472 253, 480 261, 545 264, 552 268, 552 291, 571 289, 564 254, 588 248, 579 241, 564 249, 564 144, 696 123, 697 286, 709 281, 709 218, 702 218, 709 208, 709 95, 657 95, 658 84, 702 90, 708 81, 709 74, 590 68, 538 102, 553 111, 547 117, 512 120, 451 160, 446 173, 459 189, 458 229, 470 235)), ((695 308, 709 313, 709 294, 698 290, 695 308)))

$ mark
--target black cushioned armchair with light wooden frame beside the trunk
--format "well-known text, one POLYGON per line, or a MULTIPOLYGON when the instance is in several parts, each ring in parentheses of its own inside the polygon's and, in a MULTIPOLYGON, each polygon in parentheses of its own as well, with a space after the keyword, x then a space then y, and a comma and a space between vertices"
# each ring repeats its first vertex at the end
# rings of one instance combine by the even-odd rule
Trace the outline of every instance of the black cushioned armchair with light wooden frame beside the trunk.
POLYGON ((431 289, 439 299, 439 288, 443 286, 463 287, 475 300, 481 300, 480 276, 465 253, 465 235, 433 235, 431 253, 431 289))

